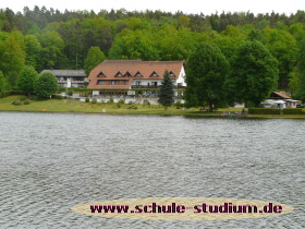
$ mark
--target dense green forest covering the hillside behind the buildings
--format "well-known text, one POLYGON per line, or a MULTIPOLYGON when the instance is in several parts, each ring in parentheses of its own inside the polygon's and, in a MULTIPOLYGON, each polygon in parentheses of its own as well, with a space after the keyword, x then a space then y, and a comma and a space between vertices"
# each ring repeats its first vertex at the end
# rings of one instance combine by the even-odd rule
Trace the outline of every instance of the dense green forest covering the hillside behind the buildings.
POLYGON ((101 57, 107 59, 187 61, 198 44, 206 41, 216 45, 231 63, 241 44, 257 40, 279 62, 277 89, 295 93, 302 82, 305 88, 305 81, 302 81, 304 25, 305 11, 291 15, 276 12, 204 15, 124 9, 99 13, 60 12, 45 7, 33 10, 25 7, 23 12, 16 13, 2 9, 0 86, 2 89, 15 86, 24 65, 32 65, 37 72, 85 69, 91 48, 101 51, 101 57))

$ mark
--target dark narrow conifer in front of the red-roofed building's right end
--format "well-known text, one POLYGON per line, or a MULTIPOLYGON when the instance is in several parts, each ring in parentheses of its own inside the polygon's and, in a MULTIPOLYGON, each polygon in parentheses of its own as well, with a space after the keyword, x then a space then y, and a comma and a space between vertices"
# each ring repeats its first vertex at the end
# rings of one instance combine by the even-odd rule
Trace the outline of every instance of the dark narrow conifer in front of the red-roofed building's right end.
POLYGON ((172 81, 170 79, 170 73, 168 71, 166 71, 166 73, 164 73, 162 85, 160 87, 158 103, 160 103, 164 107, 166 110, 168 109, 168 107, 172 106, 174 103, 173 85, 172 85, 172 81))

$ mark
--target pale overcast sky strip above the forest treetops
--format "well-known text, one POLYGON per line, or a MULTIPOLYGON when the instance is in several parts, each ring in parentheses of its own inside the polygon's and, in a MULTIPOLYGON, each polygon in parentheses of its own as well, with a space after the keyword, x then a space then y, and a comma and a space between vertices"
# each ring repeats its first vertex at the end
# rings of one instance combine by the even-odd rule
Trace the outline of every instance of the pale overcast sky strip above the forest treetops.
POLYGON ((34 5, 47 9, 53 8, 60 11, 68 10, 119 10, 124 8, 129 11, 161 10, 183 11, 184 13, 211 14, 218 11, 241 12, 251 11, 257 13, 295 13, 305 10, 305 0, 1 0, 0 8, 10 8, 14 12, 23 11, 24 7, 33 9, 34 5))

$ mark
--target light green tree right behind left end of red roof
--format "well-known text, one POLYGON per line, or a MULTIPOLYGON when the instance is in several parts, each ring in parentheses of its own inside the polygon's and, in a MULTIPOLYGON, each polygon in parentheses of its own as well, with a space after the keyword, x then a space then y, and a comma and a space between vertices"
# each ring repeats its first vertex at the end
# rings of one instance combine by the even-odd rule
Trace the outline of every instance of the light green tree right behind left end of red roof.
POLYGON ((90 74, 90 71, 97 67, 100 62, 106 59, 105 53, 99 47, 91 47, 88 51, 87 58, 85 59, 85 73, 90 74))

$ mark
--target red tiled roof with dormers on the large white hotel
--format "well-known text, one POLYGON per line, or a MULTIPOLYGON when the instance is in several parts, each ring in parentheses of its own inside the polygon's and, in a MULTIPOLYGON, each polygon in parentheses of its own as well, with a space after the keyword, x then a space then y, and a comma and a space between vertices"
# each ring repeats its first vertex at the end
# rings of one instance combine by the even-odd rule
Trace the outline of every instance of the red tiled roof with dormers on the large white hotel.
POLYGON ((172 72, 174 76, 172 79, 178 79, 179 74, 182 70, 184 62, 183 61, 142 61, 142 60, 105 60, 100 64, 98 64, 90 72, 88 79, 90 83, 88 88, 122 88, 129 89, 133 80, 136 79, 154 79, 151 73, 156 72, 158 76, 156 79, 163 79, 163 74, 166 70, 172 72), (106 77, 97 77, 97 75, 102 72, 106 77), (120 72, 123 76, 115 77, 115 75, 120 72), (126 72, 130 72, 132 76, 124 76, 126 72), (135 76, 135 74, 139 72, 142 74, 141 77, 135 76), (125 85, 98 85, 98 80, 117 80, 123 81, 129 80, 129 83, 125 85))

